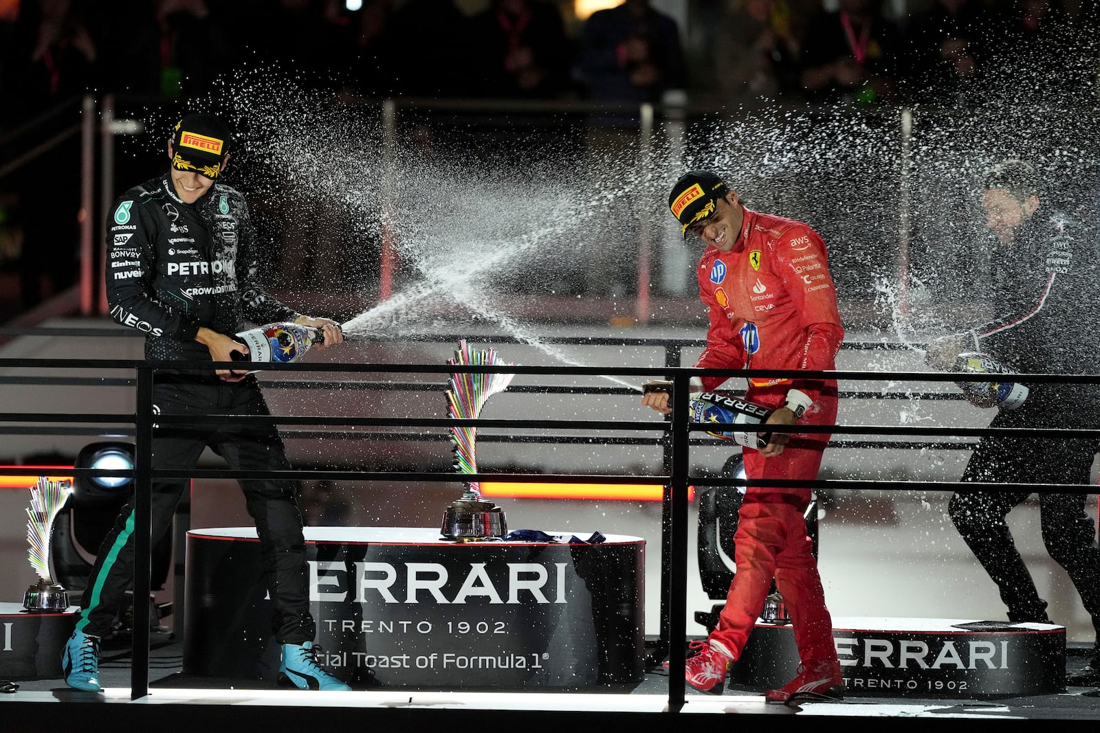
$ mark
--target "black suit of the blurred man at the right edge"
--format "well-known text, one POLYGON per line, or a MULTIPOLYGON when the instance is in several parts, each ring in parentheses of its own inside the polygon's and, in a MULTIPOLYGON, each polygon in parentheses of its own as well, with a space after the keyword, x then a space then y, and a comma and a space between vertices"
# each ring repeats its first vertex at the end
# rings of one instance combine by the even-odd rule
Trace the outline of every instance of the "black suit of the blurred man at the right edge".
MULTIPOLYGON (((975 351, 1030 374, 1089 374, 1100 348, 1097 257, 1091 237, 1065 214, 1040 209, 1016 231, 994 276, 998 319, 971 331, 975 351)), ((1096 427, 1097 385, 1030 385, 1026 402, 1000 410, 992 427, 1096 427)), ((964 481, 1019 485, 1016 491, 958 491, 949 513, 1008 606, 1011 621, 1046 620, 1046 602, 1020 557, 1005 515, 1027 484, 1088 484, 1096 440, 982 437, 964 481)), ((1100 551, 1085 493, 1040 493, 1043 543, 1066 569, 1100 630, 1100 551)))

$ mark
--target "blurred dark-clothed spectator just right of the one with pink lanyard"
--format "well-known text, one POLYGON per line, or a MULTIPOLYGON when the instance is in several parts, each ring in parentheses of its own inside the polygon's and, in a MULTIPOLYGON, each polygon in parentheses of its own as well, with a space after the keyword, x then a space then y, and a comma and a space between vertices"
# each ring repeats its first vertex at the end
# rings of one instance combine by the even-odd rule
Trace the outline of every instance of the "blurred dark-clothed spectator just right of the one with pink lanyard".
POLYGON ((981 71, 982 26, 977 0, 936 0, 910 19, 906 33, 906 96, 910 101, 968 105, 981 71))

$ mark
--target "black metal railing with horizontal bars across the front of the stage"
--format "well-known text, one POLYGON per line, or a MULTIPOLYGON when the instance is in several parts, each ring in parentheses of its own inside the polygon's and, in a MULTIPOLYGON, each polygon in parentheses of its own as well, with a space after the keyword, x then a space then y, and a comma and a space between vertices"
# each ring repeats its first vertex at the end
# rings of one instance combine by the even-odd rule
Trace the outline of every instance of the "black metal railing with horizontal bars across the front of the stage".
MULTIPOLYGON (((51 331, 51 330, 34 330, 51 331)), ((112 330, 113 331, 113 330, 112 330)), ((0 330, 2 332, 2 330, 0 330)), ((122 332, 124 333, 124 332, 122 332)), ((113 331, 112 335, 120 332, 113 331)), ((80 330, 80 335, 88 335, 88 331, 80 330)), ((453 341, 453 336, 431 336, 426 337, 432 341, 453 341)), ((507 338, 493 336, 495 342, 506 342, 507 338)), ((547 340, 550 342, 551 340, 547 340)), ((689 402, 689 379, 692 376, 739 376, 755 377, 767 376, 770 378, 801 377, 801 378, 832 378, 839 382, 848 380, 878 380, 892 382, 944 382, 959 381, 960 379, 981 380, 980 375, 961 376, 958 374, 924 373, 924 371, 828 371, 828 373, 806 373, 806 371, 762 371, 750 370, 723 370, 723 369, 695 369, 681 367, 673 362, 679 362, 681 349, 685 345, 698 345, 697 340, 588 340, 588 338, 557 338, 556 343, 582 343, 582 344, 612 344, 612 345, 648 345, 662 346, 666 349, 667 365, 663 367, 537 367, 537 366, 466 366, 466 365, 387 365, 387 364, 251 364, 250 368, 260 371, 274 373, 374 373, 374 374, 439 374, 449 375, 455 373, 475 374, 515 374, 536 376, 634 376, 642 378, 664 378, 673 382, 673 412, 671 419, 663 421, 630 421, 622 420, 525 420, 525 419, 451 419, 451 418, 384 418, 384 417, 356 417, 356 418, 333 418, 318 415, 273 415, 273 417, 229 417, 227 421, 235 423, 263 423, 276 425, 317 425, 326 426, 359 426, 359 427, 450 427, 453 425, 469 424, 476 427, 496 427, 505 430, 538 429, 542 431, 558 430, 590 430, 590 431, 629 431, 644 433, 658 433, 656 437, 639 438, 614 438, 631 440, 635 444, 660 445, 662 448, 662 468, 658 474, 646 475, 580 475, 580 474, 521 474, 521 473, 480 473, 462 475, 463 480, 485 481, 560 481, 560 482, 620 482, 620 484, 652 484, 660 481, 666 490, 662 499, 662 538, 661 538, 661 619, 660 635, 661 641, 668 643, 670 640, 683 640, 686 632, 686 568, 688 568, 688 488, 691 485, 698 486, 745 486, 745 479, 716 477, 711 475, 693 475, 690 469, 690 451, 693 446, 703 444, 703 441, 693 441, 692 433, 705 430, 713 430, 713 424, 703 425, 690 422, 689 402)), ((851 345, 848 347, 859 348, 861 346, 851 345)), ((872 346, 873 347, 873 346, 872 346)), ((110 471, 74 468, 77 476, 133 476, 138 487, 147 487, 153 479, 179 479, 179 478, 266 478, 266 479, 329 479, 329 480, 359 480, 376 481, 392 480, 395 471, 365 471, 365 470, 321 470, 321 469, 296 469, 280 471, 242 471, 224 469, 194 469, 189 471, 154 469, 151 460, 153 424, 153 378, 157 370, 170 366, 173 369, 201 369, 209 370, 210 363, 173 363, 170 365, 155 364, 145 360, 122 360, 122 359, 0 359, 0 384, 77 384, 77 385, 111 385, 111 386, 136 386, 136 406, 133 413, 79 413, 79 412, 0 412, 0 434, 26 434, 46 433, 56 423, 78 423, 88 425, 90 423, 109 424, 112 432, 122 432, 128 426, 132 426, 132 434, 135 438, 135 464, 133 471, 110 471), (98 379, 98 378, 65 378, 65 377, 25 377, 11 375, 12 370, 34 370, 34 369, 94 369, 94 370, 132 370, 134 379, 98 379), (28 382, 28 379, 37 379, 28 382), (14 424, 12 424, 14 423, 14 424), (48 423, 47 425, 28 425, 25 423, 48 423)), ((1100 384, 1100 376, 1097 375, 1018 375, 1020 381, 1027 384, 1100 384)), ((316 382, 295 381, 295 387, 326 388, 334 384, 345 385, 346 382, 331 382, 318 380, 316 382)), ((277 386, 277 381, 265 381, 266 388, 277 386)), ((439 389, 441 384, 436 382, 400 382, 395 386, 391 382, 371 382, 370 387, 389 389, 439 389)), ((365 385, 362 388, 370 388, 365 385)), ((550 391, 554 388, 540 388, 538 386, 525 387, 530 391, 550 391)), ((603 392, 631 393, 631 390, 619 388, 595 388, 595 387, 570 387, 572 392, 583 390, 601 390, 603 392)), ((636 392, 635 392, 636 393, 636 392)), ((879 392, 840 392, 842 398, 882 398, 879 392)), ((915 392, 906 391, 905 396, 913 396, 915 392)), ((946 397, 946 396, 945 396, 946 397)), ((958 397, 953 395, 953 397, 958 397)), ((198 423, 202 417, 183 415, 156 415, 157 424, 176 423, 198 423)), ((208 420, 208 418, 207 418, 208 420)), ((73 427, 74 434, 92 434, 88 427, 73 427), (76 433, 76 431, 82 431, 76 433)), ((98 429, 97 429, 98 430, 98 429)), ((1100 437, 1100 430, 1064 430, 1064 429, 991 429, 991 427, 960 427, 960 426, 932 426, 932 425, 773 425, 776 432, 811 432, 811 433, 833 433, 842 435, 895 435, 909 437, 922 436, 949 436, 949 437, 981 437, 987 435, 1028 435, 1030 437, 1100 437)), ((400 433, 402 437, 409 437, 408 433, 400 433)), ((417 440, 422 436, 415 436, 417 440)), ((488 435, 485 436, 490 437, 488 435)), ((498 436, 504 440, 507 436, 498 436)), ((536 436, 540 441, 564 442, 569 440, 585 440, 587 442, 610 442, 612 438, 601 436, 563 436, 547 435, 536 436)), ((834 446, 845 446, 849 441, 834 442, 834 446)), ((926 447, 928 443, 917 441, 887 442, 889 447, 926 447)), ((935 443, 934 445, 952 448, 969 447, 967 442, 935 443)), ((0 475, 15 475, 24 473, 25 469, 12 468, 0 469, 0 475)), ((411 481, 442 481, 453 482, 455 474, 441 471, 399 471, 403 480, 411 481)), ((827 480, 795 480, 795 479, 755 479, 755 485, 774 487, 804 487, 816 488, 817 490, 851 490, 851 489, 921 489, 921 490, 956 490, 958 488, 1005 490, 1007 486, 992 482, 945 482, 945 481, 912 481, 912 480, 865 480, 865 479, 827 479, 827 480)), ((1013 487, 1014 488, 1014 487, 1013 487)), ((1056 491, 1062 493, 1078 492, 1090 493, 1094 491, 1091 485, 1060 485, 1040 484, 1028 485, 1033 491, 1056 491)), ((147 491, 135 491, 135 566, 134 587, 148 587, 151 575, 151 506, 147 491)), ((147 618, 150 613, 150 599, 145 593, 134 595, 134 618, 147 618)), ((673 669, 682 667, 684 663, 684 647, 680 643, 668 643, 669 663, 673 669)), ((131 697, 133 699, 143 698, 148 693, 148 655, 150 655, 150 630, 145 624, 134 624, 133 638, 133 666, 131 671, 131 697)), ((669 709, 678 711, 684 703, 684 679, 680 675, 669 676, 669 709)))

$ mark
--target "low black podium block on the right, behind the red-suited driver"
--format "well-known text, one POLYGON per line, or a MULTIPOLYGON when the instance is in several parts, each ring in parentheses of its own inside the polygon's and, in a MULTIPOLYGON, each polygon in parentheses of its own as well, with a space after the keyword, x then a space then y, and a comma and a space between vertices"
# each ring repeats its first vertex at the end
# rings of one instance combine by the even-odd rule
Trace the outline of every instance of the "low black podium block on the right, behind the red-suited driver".
MULTIPOLYGON (((1019 697, 1066 685, 1066 630, 1054 624, 834 617, 833 638, 849 696, 1019 697)), ((730 680, 774 688, 798 666, 793 629, 758 621, 730 680)))

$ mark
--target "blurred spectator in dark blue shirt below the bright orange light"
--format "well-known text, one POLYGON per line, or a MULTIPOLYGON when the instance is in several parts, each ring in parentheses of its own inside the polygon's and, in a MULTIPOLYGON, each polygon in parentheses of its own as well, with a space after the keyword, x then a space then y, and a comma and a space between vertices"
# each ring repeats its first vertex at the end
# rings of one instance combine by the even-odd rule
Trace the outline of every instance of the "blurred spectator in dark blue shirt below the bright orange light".
POLYGON ((626 0, 592 13, 578 67, 588 96, 602 102, 658 102, 686 82, 676 22, 649 0, 626 0))

